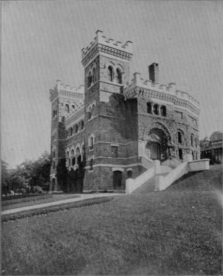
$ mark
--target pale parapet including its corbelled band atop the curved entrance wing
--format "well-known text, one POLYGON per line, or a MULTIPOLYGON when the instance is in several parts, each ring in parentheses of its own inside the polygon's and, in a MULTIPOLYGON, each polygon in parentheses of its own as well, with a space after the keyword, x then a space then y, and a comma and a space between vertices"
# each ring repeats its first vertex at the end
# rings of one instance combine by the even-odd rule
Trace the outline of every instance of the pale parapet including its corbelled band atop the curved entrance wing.
POLYGON ((126 84, 123 94, 125 98, 138 97, 138 95, 143 94, 150 98, 170 101, 175 105, 188 107, 196 114, 200 112, 198 100, 187 92, 176 90, 175 83, 168 85, 153 83, 141 78, 141 74, 137 72, 133 74, 133 79, 126 84))

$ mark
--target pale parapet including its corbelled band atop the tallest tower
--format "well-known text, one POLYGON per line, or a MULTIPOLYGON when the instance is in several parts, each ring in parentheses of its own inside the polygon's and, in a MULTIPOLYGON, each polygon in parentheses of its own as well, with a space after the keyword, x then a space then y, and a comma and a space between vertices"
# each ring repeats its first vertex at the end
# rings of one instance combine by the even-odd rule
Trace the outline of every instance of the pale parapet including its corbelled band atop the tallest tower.
POLYGON ((131 41, 126 41, 125 43, 115 41, 112 38, 106 37, 101 30, 96 31, 94 41, 88 47, 82 48, 81 51, 83 66, 87 66, 99 54, 114 56, 127 61, 130 61, 133 55, 131 41))

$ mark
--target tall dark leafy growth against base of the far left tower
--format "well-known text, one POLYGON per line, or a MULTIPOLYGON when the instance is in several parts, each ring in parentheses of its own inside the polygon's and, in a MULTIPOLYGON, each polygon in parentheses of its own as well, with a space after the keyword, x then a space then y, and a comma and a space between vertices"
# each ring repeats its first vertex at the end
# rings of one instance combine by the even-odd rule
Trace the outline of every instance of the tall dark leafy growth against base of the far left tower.
POLYGON ((63 192, 67 192, 68 187, 68 171, 66 168, 66 159, 61 158, 56 166, 56 179, 63 192))

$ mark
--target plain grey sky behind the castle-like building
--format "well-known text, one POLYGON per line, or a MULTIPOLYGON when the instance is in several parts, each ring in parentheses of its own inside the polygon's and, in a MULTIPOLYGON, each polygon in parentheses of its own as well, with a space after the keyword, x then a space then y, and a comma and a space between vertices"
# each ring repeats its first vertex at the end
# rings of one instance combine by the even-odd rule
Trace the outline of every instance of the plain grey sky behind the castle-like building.
POLYGON ((10 167, 50 152, 49 90, 84 83, 81 49, 97 29, 131 40, 131 73, 200 101, 200 138, 222 130, 222 1, 1 1, 1 157, 10 167))

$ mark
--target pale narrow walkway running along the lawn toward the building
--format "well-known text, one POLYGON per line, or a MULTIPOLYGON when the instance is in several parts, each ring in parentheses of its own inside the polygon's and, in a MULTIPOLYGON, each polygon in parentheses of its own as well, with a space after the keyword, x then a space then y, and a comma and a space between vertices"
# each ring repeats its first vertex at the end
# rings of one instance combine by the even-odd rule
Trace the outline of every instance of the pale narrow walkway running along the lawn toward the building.
POLYGON ((32 209, 39 209, 39 208, 44 208, 44 207, 48 207, 48 206, 54 206, 54 205, 59 205, 59 204, 64 204, 64 203, 75 202, 75 201, 81 201, 84 199, 95 198, 95 197, 124 195, 124 193, 88 193, 88 194, 80 193, 80 194, 75 194, 75 195, 78 195, 78 197, 5 210, 5 211, 1 212, 1 215, 12 214, 12 213, 17 213, 17 212, 32 210, 32 209))

